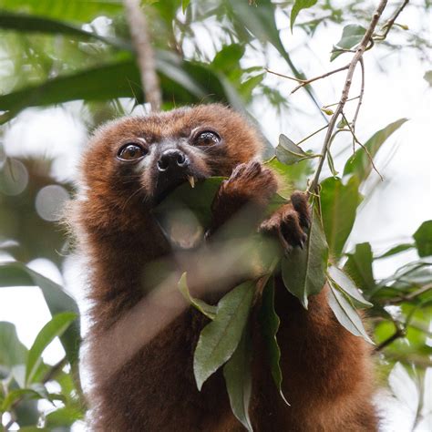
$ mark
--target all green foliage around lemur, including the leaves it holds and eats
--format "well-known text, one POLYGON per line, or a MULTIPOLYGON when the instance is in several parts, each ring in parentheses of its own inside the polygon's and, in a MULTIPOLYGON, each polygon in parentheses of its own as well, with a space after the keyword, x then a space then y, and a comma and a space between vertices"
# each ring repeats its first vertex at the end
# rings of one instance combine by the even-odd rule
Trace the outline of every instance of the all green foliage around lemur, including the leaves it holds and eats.
MULTIPOLYGON (((304 79, 285 47, 277 18, 287 17, 294 32, 303 31, 310 38, 319 26, 344 26, 339 41, 328 41, 334 42, 329 53, 334 60, 338 56, 348 58, 346 51, 359 45, 372 13, 365 2, 354 0, 345 2, 343 9, 332 2, 301 0, 256 0, 249 2, 251 5, 246 0, 142 3, 150 18, 163 108, 219 101, 243 112, 254 123, 258 121, 251 112, 257 101, 270 104, 279 112, 290 107, 281 88, 265 79, 269 50, 277 53, 294 78, 304 79), (209 46, 214 46, 215 56, 202 44, 203 32, 209 46), (260 66, 248 63, 251 54, 263 58, 260 66)), ((395 28, 402 30, 400 26, 395 28)), ((430 42, 421 32, 406 34, 405 44, 427 57, 430 42)), ((382 46, 389 53, 398 47, 391 37, 382 46)), ((79 116, 92 129, 108 118, 129 114, 125 98, 132 100, 134 106, 144 102, 119 0, 0 0, 0 52, 0 125, 4 124, 5 129, 30 107, 42 109, 59 104, 67 109, 73 105, 71 102, 79 101, 79 116)), ((429 84, 430 73, 425 74, 429 84)), ((307 98, 318 108, 316 116, 326 119, 325 112, 333 113, 328 108, 320 110, 314 89, 310 85, 303 87, 307 98)), ((341 131, 350 132, 349 123, 344 121, 341 131)), ((368 198, 365 185, 374 170, 373 158, 405 122, 406 118, 397 119, 378 130, 363 146, 355 142, 357 149, 341 173, 334 169, 333 157, 328 153, 333 175, 321 179, 319 194, 313 194, 314 220, 303 250, 285 257, 279 250, 269 252, 268 244, 254 238, 253 250, 257 255, 261 252, 258 258, 269 255, 271 259, 262 259, 260 274, 234 288, 217 305, 192 298, 186 275, 181 278, 181 293, 211 321, 196 348, 197 384, 201 388, 216 370, 223 368, 232 410, 249 430, 252 345, 248 319, 255 286, 263 289, 260 323, 269 367, 279 391, 283 382, 273 285, 273 273, 279 268, 287 289, 305 307, 308 295, 321 291, 327 281, 331 287, 328 300, 338 321, 353 334, 375 341, 386 373, 394 365, 414 369, 416 376, 412 379, 417 380, 420 393, 427 394, 423 377, 427 367, 432 366, 432 350, 427 345, 427 338, 432 335, 432 221, 424 221, 413 232, 412 241, 396 243, 381 254, 375 254, 368 242, 349 242, 363 194, 368 198), (416 252, 418 258, 395 267, 394 274, 386 279, 375 277, 376 262, 392 260, 406 251, 416 252), (356 313, 356 308, 363 307, 370 307, 370 333, 365 332, 356 313), (226 337, 228 326, 230 333, 226 337)), ((42 220, 34 202, 47 185, 61 184, 67 191, 73 190, 73 185, 68 180, 52 178, 49 160, 4 158, 1 137, 5 129, 0 130, 0 252, 7 262, 0 263, 0 287, 38 287, 52 318, 30 349, 19 341, 13 324, 0 323, 0 412, 5 413, 6 429, 16 423, 23 430, 36 425, 46 430, 70 430, 86 412, 77 373, 77 304, 62 286, 31 270, 27 263, 44 257, 62 268, 64 257, 58 252, 67 249, 64 232, 53 222, 42 220), (18 180, 23 180, 23 187, 16 189, 18 180), (66 355, 57 365, 47 365, 42 355, 56 337, 66 355), (57 383, 56 392, 51 391, 53 383, 57 383), (38 400, 49 401, 51 408, 41 409, 38 400)), ((292 190, 306 189, 306 180, 314 173, 314 161, 321 155, 305 149, 303 141, 296 144, 281 135, 275 151, 270 143, 266 149, 265 163, 282 180, 281 195, 274 197, 269 211, 286 202, 292 190)), ((211 200, 221 180, 198 183, 194 190, 180 187, 159 206, 159 216, 180 202, 182 209, 193 212, 198 224, 207 226, 211 200)), ((390 384, 394 384, 392 375, 390 378, 390 384)))

